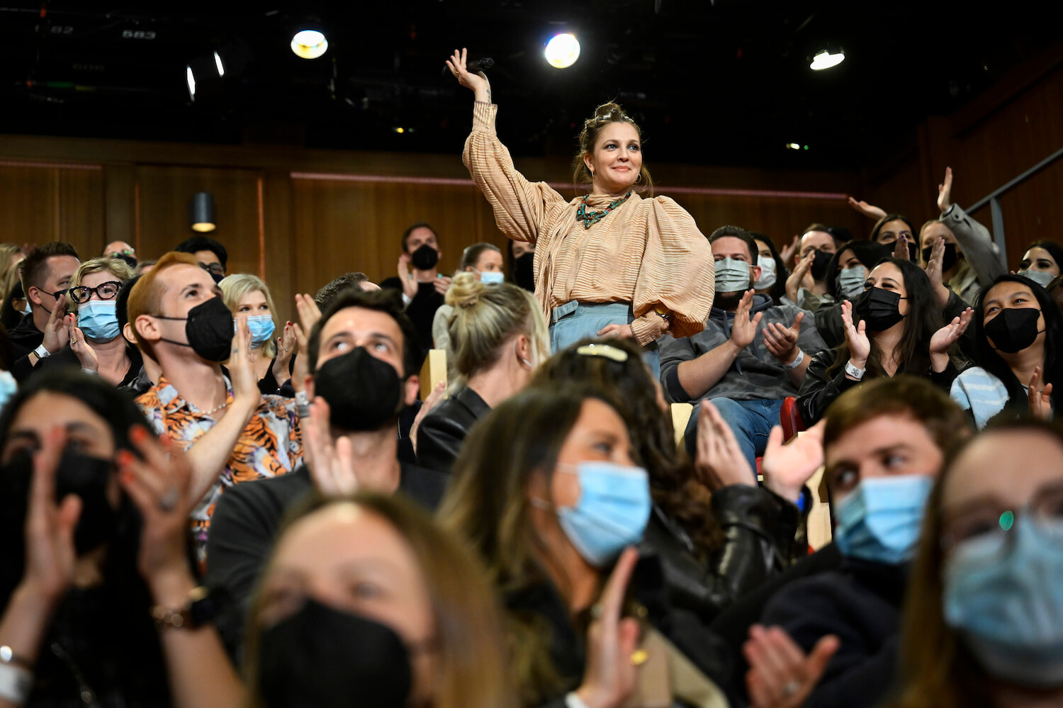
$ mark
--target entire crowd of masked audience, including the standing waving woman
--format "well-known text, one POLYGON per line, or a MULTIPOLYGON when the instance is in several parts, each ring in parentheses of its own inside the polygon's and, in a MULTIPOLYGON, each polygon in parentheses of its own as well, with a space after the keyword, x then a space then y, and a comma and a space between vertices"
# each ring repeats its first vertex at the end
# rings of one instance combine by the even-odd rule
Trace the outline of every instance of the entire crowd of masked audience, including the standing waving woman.
POLYGON ((951 171, 706 235, 612 103, 566 200, 448 66, 511 239, 454 273, 414 223, 282 321, 207 236, 0 246, 0 707, 1063 703, 1061 247, 951 171))

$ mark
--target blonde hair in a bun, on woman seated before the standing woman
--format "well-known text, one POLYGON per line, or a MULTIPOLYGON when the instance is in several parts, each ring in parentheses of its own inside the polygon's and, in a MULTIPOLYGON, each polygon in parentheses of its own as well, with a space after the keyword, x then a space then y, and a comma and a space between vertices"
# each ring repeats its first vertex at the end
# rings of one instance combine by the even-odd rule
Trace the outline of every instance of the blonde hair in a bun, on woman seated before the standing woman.
POLYGON ((446 291, 446 304, 454 308, 446 321, 451 390, 493 366, 503 344, 518 335, 532 341, 533 364, 550 356, 542 307, 527 290, 511 283, 484 285, 472 273, 458 273, 446 291))

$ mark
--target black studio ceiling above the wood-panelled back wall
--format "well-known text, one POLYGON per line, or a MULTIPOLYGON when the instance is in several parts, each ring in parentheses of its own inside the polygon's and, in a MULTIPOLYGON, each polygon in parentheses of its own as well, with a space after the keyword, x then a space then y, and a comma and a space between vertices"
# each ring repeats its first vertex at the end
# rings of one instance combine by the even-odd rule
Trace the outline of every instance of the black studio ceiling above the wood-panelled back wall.
POLYGON ((1020 3, 79 0, 0 7, 0 133, 456 155, 472 95, 441 68, 467 46, 496 62, 517 155, 570 155, 579 122, 615 99, 651 163, 856 168, 1060 33, 1020 3), (311 61, 288 48, 307 18, 330 43, 311 61), (581 53, 558 70, 542 48, 564 31, 581 53), (809 69, 838 46, 844 63, 809 69))

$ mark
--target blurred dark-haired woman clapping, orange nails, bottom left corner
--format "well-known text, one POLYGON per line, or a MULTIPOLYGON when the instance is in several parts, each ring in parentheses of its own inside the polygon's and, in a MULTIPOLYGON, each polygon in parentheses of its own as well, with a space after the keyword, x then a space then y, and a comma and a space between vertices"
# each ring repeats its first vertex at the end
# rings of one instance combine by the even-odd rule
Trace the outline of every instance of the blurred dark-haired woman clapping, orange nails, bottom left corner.
POLYGON ((146 425, 132 400, 78 371, 35 375, 4 409, 0 705, 239 702, 209 618, 190 605, 188 468, 146 425))

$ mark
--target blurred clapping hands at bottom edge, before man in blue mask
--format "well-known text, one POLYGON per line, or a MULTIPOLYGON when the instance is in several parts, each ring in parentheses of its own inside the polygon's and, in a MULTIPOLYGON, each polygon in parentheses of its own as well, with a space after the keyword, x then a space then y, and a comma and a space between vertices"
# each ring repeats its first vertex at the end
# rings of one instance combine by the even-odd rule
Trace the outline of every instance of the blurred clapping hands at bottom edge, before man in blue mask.
POLYGON ((742 646, 749 663, 745 686, 750 708, 805 705, 840 645, 838 637, 827 635, 806 655, 780 627, 753 625, 749 639, 742 646))

